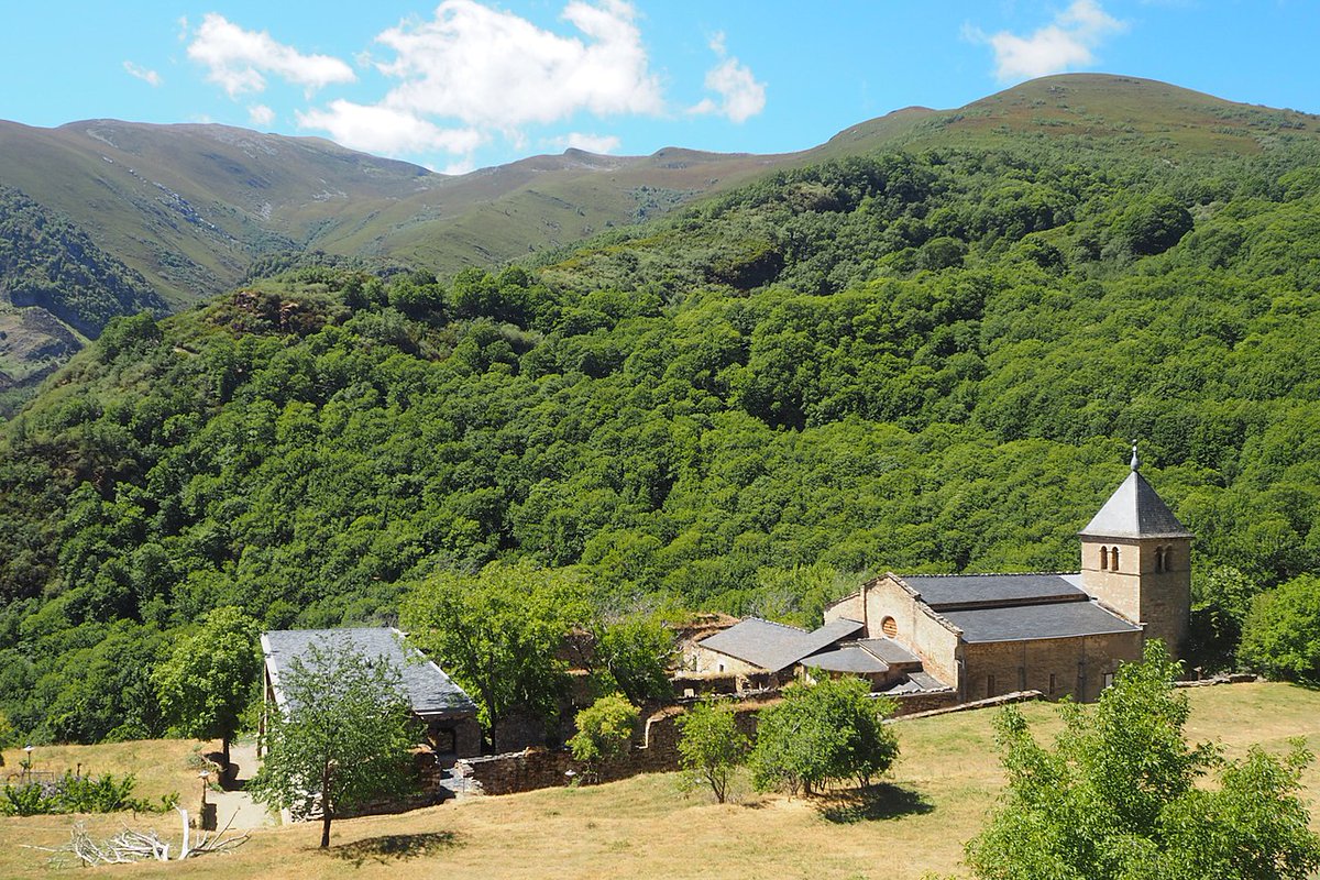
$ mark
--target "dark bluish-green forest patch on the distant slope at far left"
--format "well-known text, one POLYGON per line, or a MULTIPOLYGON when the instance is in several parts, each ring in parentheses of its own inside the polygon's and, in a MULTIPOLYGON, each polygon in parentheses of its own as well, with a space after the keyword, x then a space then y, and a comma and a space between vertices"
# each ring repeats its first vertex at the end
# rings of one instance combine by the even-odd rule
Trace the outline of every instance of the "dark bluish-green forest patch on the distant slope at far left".
POLYGON ((67 218, 7 186, 0 186, 0 293, 15 306, 41 306, 92 338, 115 315, 165 313, 165 301, 141 274, 67 218))

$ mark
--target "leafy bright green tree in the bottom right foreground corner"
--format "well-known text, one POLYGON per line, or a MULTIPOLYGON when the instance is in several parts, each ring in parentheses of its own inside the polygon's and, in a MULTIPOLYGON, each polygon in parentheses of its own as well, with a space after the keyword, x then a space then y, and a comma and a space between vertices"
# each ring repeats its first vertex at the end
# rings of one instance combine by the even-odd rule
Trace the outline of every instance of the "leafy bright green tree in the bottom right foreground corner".
POLYGON ((1007 707, 995 723, 1008 788, 968 844, 978 877, 1303 880, 1320 836, 1298 797, 1312 756, 1253 747, 1226 760, 1191 745, 1185 693, 1163 645, 1119 668, 1094 707, 1064 703, 1048 748, 1007 707), (1216 785, 1199 785, 1214 773, 1216 785))

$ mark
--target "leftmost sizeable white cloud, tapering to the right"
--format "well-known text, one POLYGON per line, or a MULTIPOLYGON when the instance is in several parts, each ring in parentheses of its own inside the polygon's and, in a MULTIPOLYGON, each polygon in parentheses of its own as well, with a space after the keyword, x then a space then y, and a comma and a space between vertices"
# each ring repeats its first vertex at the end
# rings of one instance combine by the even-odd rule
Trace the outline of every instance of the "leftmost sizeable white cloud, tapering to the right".
POLYGON ((331 55, 304 55, 293 46, 276 42, 269 33, 244 30, 224 16, 209 12, 202 18, 187 57, 205 65, 206 78, 236 98, 260 92, 265 77, 273 74, 309 90, 356 79, 352 69, 331 55))

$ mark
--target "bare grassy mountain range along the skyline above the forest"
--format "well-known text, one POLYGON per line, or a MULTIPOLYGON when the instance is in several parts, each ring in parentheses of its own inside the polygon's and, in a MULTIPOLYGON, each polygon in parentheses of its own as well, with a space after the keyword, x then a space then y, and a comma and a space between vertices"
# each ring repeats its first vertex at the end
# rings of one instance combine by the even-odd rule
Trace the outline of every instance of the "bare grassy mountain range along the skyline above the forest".
MULTIPOLYGON (((40 129, 0 123, 0 186, 65 218, 180 309, 260 272, 271 255, 315 249, 366 265, 451 274, 659 216, 775 168, 876 149, 993 149, 1036 139, 1067 142, 1078 154, 1139 149, 1181 161, 1251 156, 1280 132, 1313 137, 1315 131, 1316 117, 1292 111, 1233 104, 1152 80, 1067 75, 954 111, 898 111, 801 153, 568 150, 459 177, 319 139, 223 125, 87 120, 40 129)), ((140 306, 129 297, 121 311, 140 306)), ((3 321, 16 340, 0 355, 0 371, 11 377, 30 381, 66 356, 49 360, 45 352, 77 348, 67 339, 57 343, 32 319, 11 314, 3 321)), ((86 334, 77 322, 65 325, 75 342, 86 334)))

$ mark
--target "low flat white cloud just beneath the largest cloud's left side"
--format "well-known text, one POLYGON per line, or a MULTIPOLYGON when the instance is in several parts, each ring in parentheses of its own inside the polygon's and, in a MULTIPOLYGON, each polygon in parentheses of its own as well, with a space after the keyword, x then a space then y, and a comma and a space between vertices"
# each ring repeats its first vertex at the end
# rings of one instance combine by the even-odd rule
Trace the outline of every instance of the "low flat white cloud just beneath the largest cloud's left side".
POLYGON ((327 110, 296 113, 300 128, 318 128, 345 146, 367 153, 471 153, 484 141, 475 128, 441 128, 418 116, 379 104, 333 100, 327 110))

